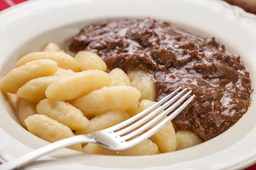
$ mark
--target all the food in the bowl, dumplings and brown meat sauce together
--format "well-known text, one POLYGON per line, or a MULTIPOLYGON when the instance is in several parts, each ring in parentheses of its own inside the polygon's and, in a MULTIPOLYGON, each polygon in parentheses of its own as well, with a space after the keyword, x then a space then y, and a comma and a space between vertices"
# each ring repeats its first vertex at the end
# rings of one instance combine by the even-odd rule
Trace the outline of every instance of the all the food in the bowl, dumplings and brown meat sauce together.
POLYGON ((49 43, 19 59, 17 68, 0 80, 2 91, 17 94, 20 124, 48 142, 111 127, 178 87, 188 88, 195 94, 193 101, 130 149, 69 147, 116 156, 173 152, 218 136, 250 106, 252 81, 240 57, 215 38, 201 38, 165 21, 94 23, 73 38, 69 50, 73 57, 49 43))

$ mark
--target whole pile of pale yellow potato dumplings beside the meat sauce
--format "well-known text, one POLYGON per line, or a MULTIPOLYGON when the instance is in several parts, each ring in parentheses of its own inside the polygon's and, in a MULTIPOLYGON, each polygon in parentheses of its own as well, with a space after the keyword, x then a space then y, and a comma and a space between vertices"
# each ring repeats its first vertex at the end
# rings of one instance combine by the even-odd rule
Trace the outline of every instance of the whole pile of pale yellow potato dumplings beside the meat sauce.
MULTIPOLYGON (((132 71, 127 75, 119 68, 106 73, 105 62, 90 51, 71 57, 49 43, 44 51, 20 58, 16 66, 0 80, 0 89, 17 94, 21 125, 48 142, 111 127, 155 103, 150 74, 132 71)), ((195 133, 178 130, 169 122, 150 140, 128 150, 116 152, 96 144, 69 148, 135 156, 172 152, 201 142, 195 133)))

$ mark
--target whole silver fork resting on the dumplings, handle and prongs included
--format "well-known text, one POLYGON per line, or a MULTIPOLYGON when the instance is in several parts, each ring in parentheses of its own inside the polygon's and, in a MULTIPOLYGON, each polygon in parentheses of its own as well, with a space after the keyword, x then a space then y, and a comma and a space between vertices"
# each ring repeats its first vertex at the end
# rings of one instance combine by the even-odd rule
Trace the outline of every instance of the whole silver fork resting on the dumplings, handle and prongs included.
POLYGON ((136 144, 139 144, 143 140, 148 139, 149 137, 154 135, 154 133, 160 130, 164 125, 166 125, 166 123, 174 119, 175 116, 177 116, 184 108, 186 108, 186 106, 194 99, 195 95, 191 96, 189 99, 185 101, 185 99, 189 96, 189 94, 191 94, 192 91, 189 91, 186 94, 184 94, 187 91, 187 89, 185 88, 182 91, 180 91, 180 89, 181 88, 177 88, 177 90, 175 90, 168 96, 164 97, 156 104, 145 109, 143 112, 140 112, 139 114, 131 117, 130 119, 127 119, 124 122, 121 122, 117 125, 114 125, 104 130, 93 132, 91 134, 73 136, 70 138, 59 140, 57 142, 53 142, 30 153, 27 153, 24 156, 21 156, 17 159, 3 163, 2 165, 0 165, 0 170, 12 170, 17 167, 21 167, 39 158, 40 156, 43 156, 47 153, 51 153, 63 147, 68 147, 73 144, 96 143, 111 150, 125 150, 130 147, 133 147, 136 144), (178 91, 180 92, 177 94, 178 91), (184 95, 182 96, 182 94, 184 95), (180 105, 182 102, 183 104, 180 105), (175 110, 175 108, 177 109, 175 110), (164 109, 166 109, 166 111, 163 111, 164 109), (163 112, 160 113, 161 111, 163 112), (172 112, 172 114, 170 114, 166 119, 164 119, 162 122, 149 129, 151 126, 155 125, 170 112, 172 112), (156 116, 158 113, 160 114, 156 116), (147 122, 154 116, 156 116, 154 119, 145 124, 145 122, 147 122), (146 132, 143 133, 144 131, 146 132))

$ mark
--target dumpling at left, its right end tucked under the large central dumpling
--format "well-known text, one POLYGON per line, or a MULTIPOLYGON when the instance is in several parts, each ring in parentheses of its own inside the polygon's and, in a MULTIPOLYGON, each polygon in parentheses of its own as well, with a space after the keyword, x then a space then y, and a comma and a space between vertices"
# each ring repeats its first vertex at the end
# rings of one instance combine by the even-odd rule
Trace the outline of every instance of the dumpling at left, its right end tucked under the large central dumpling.
POLYGON ((25 98, 32 102, 40 102, 42 99, 46 99, 45 91, 48 86, 57 79, 64 77, 60 76, 47 76, 39 77, 36 79, 29 80, 17 91, 17 96, 25 98))

